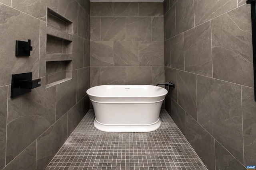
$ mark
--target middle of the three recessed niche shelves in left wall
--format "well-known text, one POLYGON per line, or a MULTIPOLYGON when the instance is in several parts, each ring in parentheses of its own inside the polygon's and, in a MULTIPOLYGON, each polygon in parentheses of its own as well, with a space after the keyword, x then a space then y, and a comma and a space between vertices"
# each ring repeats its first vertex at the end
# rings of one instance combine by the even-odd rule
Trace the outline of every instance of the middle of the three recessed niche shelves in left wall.
POLYGON ((72 41, 47 34, 46 53, 72 54, 72 41))

